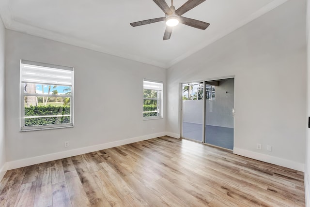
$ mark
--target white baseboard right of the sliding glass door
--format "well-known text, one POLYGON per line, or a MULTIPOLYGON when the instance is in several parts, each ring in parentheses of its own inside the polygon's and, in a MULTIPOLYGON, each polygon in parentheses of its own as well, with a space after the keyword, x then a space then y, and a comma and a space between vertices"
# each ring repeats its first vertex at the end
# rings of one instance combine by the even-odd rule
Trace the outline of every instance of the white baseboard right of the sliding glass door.
POLYGON ((233 148, 233 153, 237 154, 237 155, 244 156, 244 157, 252 158, 254 160, 263 161, 266 163, 276 164, 276 165, 291 168, 294 170, 299 170, 302 172, 305 171, 305 164, 304 163, 296 163, 296 162, 291 161, 291 160, 285 160, 282 158, 273 157, 270 155, 252 152, 252 151, 248 151, 248 150, 240 149, 240 148, 233 148))

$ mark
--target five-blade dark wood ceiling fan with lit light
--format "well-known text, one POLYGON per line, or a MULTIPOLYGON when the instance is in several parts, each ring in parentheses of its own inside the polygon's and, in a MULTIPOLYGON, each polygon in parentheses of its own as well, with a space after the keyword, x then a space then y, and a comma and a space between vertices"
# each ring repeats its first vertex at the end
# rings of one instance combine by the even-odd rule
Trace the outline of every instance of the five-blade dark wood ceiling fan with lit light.
POLYGON ((169 40, 171 37, 172 28, 178 25, 179 23, 185 24, 190 27, 198 28, 201 30, 207 29, 207 27, 210 25, 209 23, 206 23, 206 22, 202 22, 196 19, 190 19, 190 18, 181 16, 184 13, 191 10, 192 8, 198 6, 205 0, 187 0, 177 10, 175 10, 175 7, 173 6, 173 0, 171 0, 171 7, 168 6, 165 0, 153 0, 153 1, 157 4, 157 6, 159 6, 161 10, 163 10, 163 12, 165 13, 165 16, 155 18, 155 19, 148 19, 148 20, 143 20, 139 22, 133 22, 133 23, 130 23, 131 26, 137 27, 137 26, 147 25, 147 24, 151 24, 155 22, 166 21, 167 27, 164 33, 163 40, 169 40))

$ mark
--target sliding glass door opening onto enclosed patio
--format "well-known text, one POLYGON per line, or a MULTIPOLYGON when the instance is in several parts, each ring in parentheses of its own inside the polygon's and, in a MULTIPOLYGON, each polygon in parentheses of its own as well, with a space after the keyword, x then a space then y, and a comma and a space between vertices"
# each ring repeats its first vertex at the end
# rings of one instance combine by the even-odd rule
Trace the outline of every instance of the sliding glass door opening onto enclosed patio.
POLYGON ((181 137, 233 149, 234 78, 184 83, 181 137))

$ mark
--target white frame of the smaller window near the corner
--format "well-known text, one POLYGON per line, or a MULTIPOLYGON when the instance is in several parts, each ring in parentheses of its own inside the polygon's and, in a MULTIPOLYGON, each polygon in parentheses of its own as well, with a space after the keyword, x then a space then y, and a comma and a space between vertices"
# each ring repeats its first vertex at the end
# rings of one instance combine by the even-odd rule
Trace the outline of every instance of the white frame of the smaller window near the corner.
MULTIPOLYGON (((156 89, 150 89, 150 90, 156 90, 156 89)), ((150 116, 150 117, 144 117, 143 120, 150 120, 150 119, 159 119, 163 118, 163 90, 164 90, 164 84, 161 81, 155 81, 155 80, 149 80, 149 79, 143 79, 143 104, 142 104, 142 115, 144 114, 144 100, 156 100, 157 101, 157 116, 150 116), (157 90, 157 98, 144 98, 144 89, 147 89, 144 87, 144 81, 146 82, 153 82, 155 84, 161 84, 161 89, 157 90)))

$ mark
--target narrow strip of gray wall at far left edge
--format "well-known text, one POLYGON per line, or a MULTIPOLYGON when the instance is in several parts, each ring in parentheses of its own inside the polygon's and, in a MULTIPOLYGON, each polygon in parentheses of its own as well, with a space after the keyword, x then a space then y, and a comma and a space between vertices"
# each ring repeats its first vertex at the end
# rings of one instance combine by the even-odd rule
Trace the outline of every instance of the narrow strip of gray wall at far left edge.
POLYGON ((4 26, 0 18, 0 180, 5 172, 3 166, 5 158, 5 132, 4 132, 4 26))

